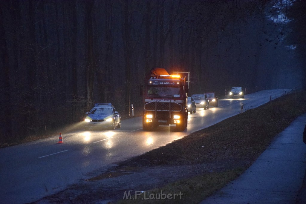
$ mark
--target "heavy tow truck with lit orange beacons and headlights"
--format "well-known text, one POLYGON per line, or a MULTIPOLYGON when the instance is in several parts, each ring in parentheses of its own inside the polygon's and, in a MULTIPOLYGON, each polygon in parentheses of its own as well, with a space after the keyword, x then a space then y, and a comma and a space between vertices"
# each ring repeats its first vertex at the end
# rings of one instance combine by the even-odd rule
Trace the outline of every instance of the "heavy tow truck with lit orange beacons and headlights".
POLYGON ((142 128, 152 131, 159 125, 176 125, 177 131, 187 127, 188 84, 186 76, 170 75, 163 68, 151 70, 144 90, 142 128))

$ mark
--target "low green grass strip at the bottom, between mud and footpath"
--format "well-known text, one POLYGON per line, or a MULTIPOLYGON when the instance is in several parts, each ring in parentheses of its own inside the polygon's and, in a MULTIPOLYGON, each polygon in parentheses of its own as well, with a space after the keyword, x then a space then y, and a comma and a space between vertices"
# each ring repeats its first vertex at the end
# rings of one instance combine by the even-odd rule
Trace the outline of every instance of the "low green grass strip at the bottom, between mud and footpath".
POLYGON ((199 203, 203 198, 211 195, 212 192, 237 178, 244 170, 245 168, 239 167, 224 172, 206 173, 183 179, 142 194, 138 193, 136 197, 134 194, 131 196, 134 200, 120 200, 118 203, 199 203), (168 195, 169 197, 166 199, 168 195), (170 197, 171 199, 169 199, 170 197))

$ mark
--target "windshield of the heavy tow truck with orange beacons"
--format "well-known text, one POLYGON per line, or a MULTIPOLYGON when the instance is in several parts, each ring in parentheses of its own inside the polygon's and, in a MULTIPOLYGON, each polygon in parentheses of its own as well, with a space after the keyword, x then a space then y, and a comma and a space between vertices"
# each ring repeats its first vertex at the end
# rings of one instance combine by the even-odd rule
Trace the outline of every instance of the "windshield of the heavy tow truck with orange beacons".
POLYGON ((155 87, 150 86, 147 97, 154 98, 177 98, 180 97, 180 87, 155 87))

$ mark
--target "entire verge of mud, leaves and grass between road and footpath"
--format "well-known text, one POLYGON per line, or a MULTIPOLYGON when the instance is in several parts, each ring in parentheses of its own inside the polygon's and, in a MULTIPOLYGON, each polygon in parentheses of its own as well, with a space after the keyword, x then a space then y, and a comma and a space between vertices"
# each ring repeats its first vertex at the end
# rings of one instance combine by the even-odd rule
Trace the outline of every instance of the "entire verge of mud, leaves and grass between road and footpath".
POLYGON ((119 163, 99 176, 39 202, 198 203, 239 176, 272 139, 306 112, 304 93, 290 94, 119 163), (131 199, 125 199, 125 192, 131 199), (181 199, 148 199, 182 192, 181 199), (135 195, 138 195, 135 197, 135 195), (134 200, 133 200, 134 198, 134 200))

